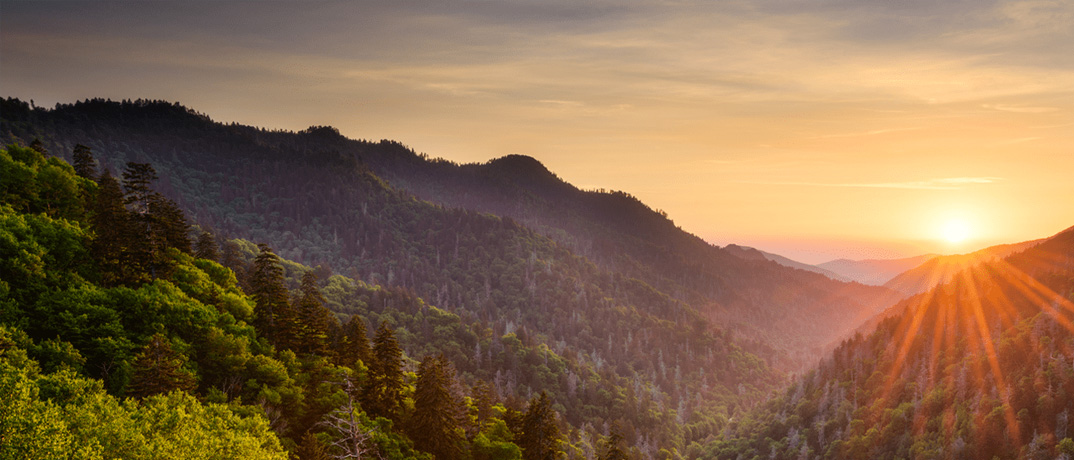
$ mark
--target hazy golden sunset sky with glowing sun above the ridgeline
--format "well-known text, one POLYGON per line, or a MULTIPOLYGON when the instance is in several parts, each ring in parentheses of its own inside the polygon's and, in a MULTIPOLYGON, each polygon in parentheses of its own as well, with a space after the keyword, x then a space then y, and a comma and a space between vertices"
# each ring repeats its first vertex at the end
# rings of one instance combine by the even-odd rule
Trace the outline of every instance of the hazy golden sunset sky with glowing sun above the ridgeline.
POLYGON ((1074 226, 1074 0, 0 0, 0 96, 529 155, 811 263, 1074 226))

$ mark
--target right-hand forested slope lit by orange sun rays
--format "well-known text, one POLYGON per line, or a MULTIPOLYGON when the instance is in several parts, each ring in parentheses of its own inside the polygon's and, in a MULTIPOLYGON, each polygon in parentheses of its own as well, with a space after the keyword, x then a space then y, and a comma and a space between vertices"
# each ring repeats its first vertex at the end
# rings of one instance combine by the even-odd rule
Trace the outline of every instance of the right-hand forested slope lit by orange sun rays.
POLYGON ((1074 229, 909 302, 706 457, 1074 458, 1074 229))

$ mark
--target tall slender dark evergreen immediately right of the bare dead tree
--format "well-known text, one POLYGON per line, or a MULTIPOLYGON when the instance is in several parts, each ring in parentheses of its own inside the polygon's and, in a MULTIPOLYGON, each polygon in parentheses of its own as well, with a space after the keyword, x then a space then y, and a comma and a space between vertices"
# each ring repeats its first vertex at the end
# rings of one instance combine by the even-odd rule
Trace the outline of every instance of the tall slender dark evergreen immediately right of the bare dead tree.
POLYGON ((371 417, 398 421, 403 399, 403 350, 387 322, 381 322, 373 337, 369 378, 362 389, 362 407, 371 417))

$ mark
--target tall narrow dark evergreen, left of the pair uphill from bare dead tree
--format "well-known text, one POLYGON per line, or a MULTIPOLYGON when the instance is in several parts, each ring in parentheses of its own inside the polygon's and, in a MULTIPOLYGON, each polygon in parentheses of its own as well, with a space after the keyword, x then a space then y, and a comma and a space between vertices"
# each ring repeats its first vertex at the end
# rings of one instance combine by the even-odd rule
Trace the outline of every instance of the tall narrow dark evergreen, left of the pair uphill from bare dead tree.
POLYGON ((253 259, 249 275, 250 294, 257 303, 257 310, 253 312, 255 326, 271 342, 279 343, 282 339, 286 343, 289 340, 288 334, 280 334, 277 330, 279 317, 284 316, 284 320, 288 320, 290 310, 287 302, 287 287, 284 285, 284 267, 268 245, 258 244, 258 257, 253 259))

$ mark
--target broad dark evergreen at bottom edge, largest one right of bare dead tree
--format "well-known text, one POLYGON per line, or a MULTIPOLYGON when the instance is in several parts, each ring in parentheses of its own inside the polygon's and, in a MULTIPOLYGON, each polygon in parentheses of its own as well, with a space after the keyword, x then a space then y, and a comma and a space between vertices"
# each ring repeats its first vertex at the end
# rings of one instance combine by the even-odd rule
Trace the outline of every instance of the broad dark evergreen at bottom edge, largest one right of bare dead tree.
POLYGON ((421 361, 407 433, 416 448, 436 459, 462 459, 466 442, 460 428, 462 402, 451 393, 454 378, 445 361, 444 355, 421 361))

